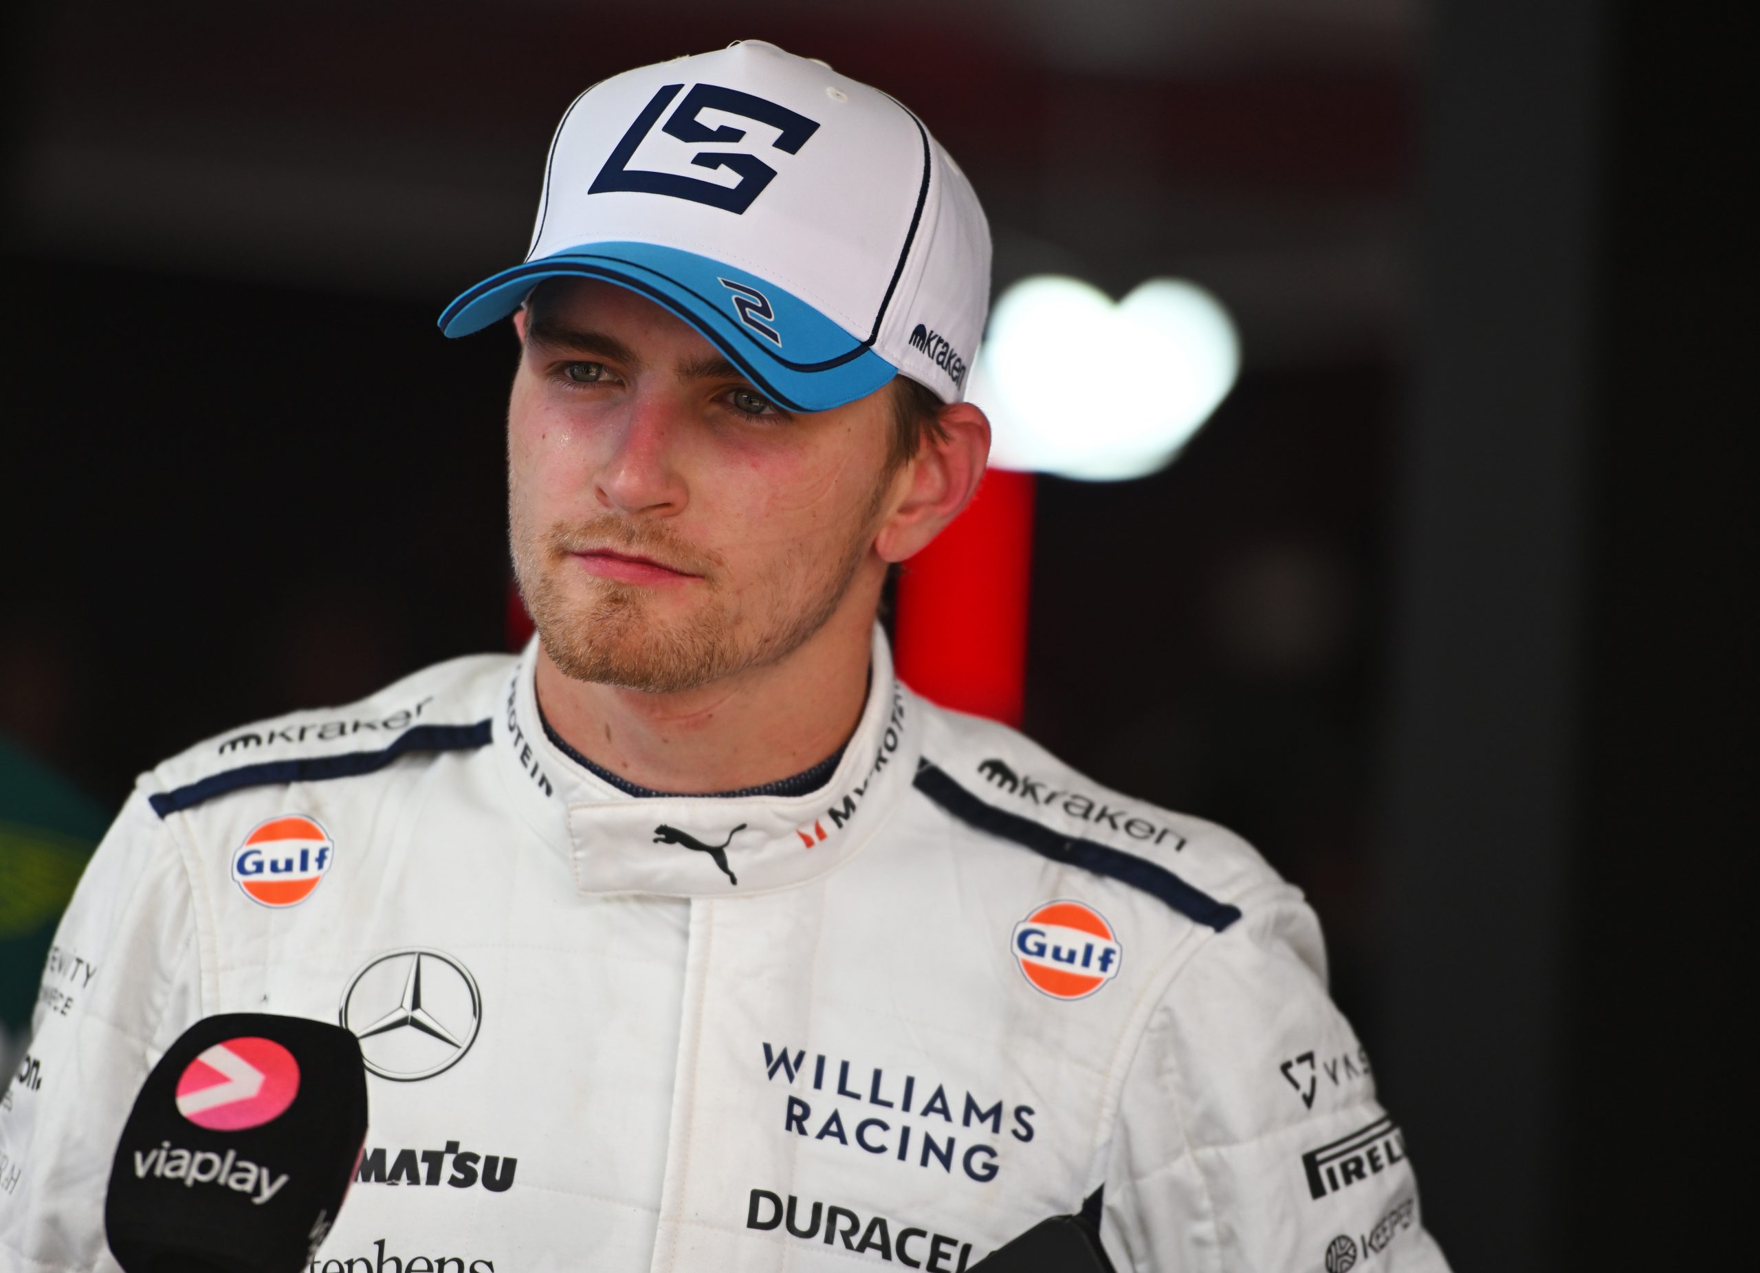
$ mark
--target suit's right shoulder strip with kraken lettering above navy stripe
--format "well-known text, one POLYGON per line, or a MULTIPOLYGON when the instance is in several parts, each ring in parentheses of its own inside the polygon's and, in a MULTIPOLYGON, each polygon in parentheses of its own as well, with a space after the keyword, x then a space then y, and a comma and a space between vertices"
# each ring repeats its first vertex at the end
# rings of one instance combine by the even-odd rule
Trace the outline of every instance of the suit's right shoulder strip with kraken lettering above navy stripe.
POLYGON ((1017 729, 924 706, 917 789, 963 822, 1218 931, 1250 896, 1301 896, 1227 828, 1095 782, 1017 729))

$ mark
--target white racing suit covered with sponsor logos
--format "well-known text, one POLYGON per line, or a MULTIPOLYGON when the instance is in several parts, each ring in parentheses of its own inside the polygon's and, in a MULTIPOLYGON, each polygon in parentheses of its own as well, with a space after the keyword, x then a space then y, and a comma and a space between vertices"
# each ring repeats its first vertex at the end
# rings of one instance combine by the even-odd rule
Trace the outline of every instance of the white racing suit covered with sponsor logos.
POLYGON ((1313 912, 1246 843, 892 680, 811 796, 639 799, 533 650, 141 778, 0 1109, 0 1266, 116 1268, 111 1157, 213 1012, 341 1021, 313 1273, 928 1269, 1051 1215, 1119 1269, 1445 1269, 1313 912))

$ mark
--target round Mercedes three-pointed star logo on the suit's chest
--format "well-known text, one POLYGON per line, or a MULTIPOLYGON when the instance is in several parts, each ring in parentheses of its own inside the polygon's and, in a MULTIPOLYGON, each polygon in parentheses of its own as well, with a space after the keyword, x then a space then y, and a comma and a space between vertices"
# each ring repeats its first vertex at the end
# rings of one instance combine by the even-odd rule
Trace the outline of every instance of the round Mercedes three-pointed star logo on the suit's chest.
POLYGON ((477 1041, 482 995, 470 970, 442 951, 380 954, 348 981, 341 1026, 361 1041, 361 1060, 394 1083, 429 1079, 477 1041))

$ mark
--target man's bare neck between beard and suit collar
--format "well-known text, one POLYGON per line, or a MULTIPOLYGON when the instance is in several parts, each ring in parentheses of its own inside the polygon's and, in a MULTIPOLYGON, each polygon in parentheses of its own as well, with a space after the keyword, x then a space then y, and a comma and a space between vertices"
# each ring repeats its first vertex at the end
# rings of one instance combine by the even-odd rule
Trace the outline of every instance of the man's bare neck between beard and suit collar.
POLYGON ((570 680, 540 644, 539 704, 572 748, 639 787, 700 794, 790 778, 861 720, 873 618, 847 609, 780 662, 678 694, 570 680))

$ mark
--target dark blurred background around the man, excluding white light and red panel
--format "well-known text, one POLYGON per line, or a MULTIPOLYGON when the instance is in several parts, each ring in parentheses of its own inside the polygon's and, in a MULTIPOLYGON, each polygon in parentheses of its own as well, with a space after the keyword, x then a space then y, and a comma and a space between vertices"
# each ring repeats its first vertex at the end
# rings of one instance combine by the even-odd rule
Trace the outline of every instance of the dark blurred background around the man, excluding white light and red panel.
MULTIPOLYGON (((514 343, 433 320, 581 88, 760 37, 926 120, 998 289, 1234 315, 1170 468, 1040 479, 1026 727, 1308 891, 1456 1266, 1734 1227, 1753 141, 1709 9, 9 14, 0 960, 139 769, 503 644, 514 343)), ((1079 350, 1049 382, 1079 410, 1079 350)))

